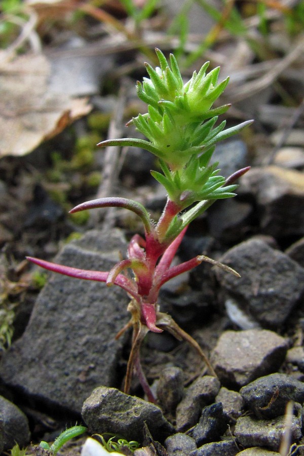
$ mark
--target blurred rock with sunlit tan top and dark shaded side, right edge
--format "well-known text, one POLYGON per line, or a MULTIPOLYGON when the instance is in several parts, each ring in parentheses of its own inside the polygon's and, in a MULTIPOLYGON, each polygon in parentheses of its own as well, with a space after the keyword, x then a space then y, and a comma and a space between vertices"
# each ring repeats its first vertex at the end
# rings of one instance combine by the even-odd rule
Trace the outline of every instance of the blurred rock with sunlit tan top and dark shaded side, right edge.
POLYGON ((304 175, 279 166, 251 168, 241 179, 240 194, 254 195, 260 229, 275 238, 304 235, 304 175))

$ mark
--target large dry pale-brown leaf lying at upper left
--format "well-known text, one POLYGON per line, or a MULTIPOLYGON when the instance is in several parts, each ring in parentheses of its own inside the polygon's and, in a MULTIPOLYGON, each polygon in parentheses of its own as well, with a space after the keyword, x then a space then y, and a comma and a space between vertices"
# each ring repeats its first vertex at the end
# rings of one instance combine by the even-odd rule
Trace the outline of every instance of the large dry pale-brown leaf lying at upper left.
POLYGON ((51 67, 42 54, 0 63, 0 158, 22 156, 87 115, 87 98, 49 90, 51 67))

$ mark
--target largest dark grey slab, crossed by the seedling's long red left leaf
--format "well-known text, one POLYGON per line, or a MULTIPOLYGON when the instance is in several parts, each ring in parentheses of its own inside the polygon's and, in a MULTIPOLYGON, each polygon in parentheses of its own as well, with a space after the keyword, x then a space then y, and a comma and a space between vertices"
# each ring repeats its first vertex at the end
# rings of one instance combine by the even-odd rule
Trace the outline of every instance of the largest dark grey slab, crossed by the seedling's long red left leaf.
MULTIPOLYGON (((90 231, 64 246, 56 261, 107 271, 125 247, 118 230, 90 231)), ((119 287, 52 274, 24 334, 3 354, 3 381, 31 399, 80 413, 94 388, 118 384, 117 360, 126 339, 115 335, 129 320, 128 302, 119 287)))

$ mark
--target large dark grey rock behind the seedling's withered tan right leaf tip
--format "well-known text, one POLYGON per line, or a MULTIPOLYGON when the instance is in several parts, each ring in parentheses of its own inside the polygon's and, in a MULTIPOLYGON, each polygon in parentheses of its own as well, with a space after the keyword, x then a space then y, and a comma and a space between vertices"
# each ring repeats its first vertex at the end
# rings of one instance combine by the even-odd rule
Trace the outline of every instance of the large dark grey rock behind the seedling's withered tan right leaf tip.
POLYGON ((261 325, 277 327, 284 323, 304 293, 304 269, 263 241, 243 242, 220 261, 242 276, 216 270, 224 300, 232 297, 261 325))

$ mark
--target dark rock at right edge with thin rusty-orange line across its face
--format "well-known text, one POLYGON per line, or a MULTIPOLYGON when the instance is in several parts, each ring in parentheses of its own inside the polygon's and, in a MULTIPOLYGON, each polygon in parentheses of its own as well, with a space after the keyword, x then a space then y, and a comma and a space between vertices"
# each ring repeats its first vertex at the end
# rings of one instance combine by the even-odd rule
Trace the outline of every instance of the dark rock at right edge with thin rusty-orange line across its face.
POLYGON ((283 415, 289 401, 304 402, 304 383, 290 375, 274 373, 257 378, 241 388, 240 394, 256 417, 271 419, 283 415))

